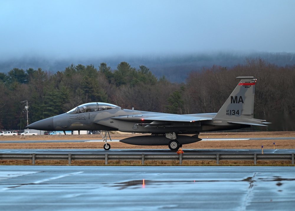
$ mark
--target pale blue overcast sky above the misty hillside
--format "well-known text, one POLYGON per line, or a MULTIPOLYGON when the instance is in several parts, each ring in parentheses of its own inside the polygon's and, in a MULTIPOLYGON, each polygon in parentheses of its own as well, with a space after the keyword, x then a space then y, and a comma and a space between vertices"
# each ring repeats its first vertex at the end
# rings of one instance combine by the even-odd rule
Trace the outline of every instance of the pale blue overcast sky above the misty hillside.
POLYGON ((294 0, 0 1, 0 58, 295 52, 294 0))

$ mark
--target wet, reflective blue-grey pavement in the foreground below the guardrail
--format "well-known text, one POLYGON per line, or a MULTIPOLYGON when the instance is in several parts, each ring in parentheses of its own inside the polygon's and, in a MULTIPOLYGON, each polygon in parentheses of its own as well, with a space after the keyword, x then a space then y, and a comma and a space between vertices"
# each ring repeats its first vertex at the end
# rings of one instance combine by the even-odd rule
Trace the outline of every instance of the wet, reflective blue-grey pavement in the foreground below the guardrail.
POLYGON ((294 167, 1 166, 0 210, 294 210, 294 167))

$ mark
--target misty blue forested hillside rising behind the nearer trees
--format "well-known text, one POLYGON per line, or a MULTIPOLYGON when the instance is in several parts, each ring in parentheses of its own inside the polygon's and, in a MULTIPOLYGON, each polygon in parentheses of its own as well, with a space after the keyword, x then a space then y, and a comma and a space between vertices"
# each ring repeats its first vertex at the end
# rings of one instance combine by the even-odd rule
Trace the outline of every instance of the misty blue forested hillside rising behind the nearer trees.
POLYGON ((89 59, 48 59, 48 58, 21 58, 6 61, 0 60, 0 72, 7 73, 13 68, 19 69, 38 69, 52 72, 63 71, 65 67, 71 64, 89 65, 98 67, 100 63, 105 62, 112 70, 117 69, 117 65, 126 61, 132 67, 138 68, 144 65, 159 79, 163 75, 170 82, 186 82, 189 72, 210 68, 213 65, 220 65, 231 68, 238 64, 244 64, 246 59, 260 57, 266 62, 278 66, 294 65, 295 53, 195 53, 184 55, 148 55, 148 56, 117 56, 109 58, 89 58, 89 59))

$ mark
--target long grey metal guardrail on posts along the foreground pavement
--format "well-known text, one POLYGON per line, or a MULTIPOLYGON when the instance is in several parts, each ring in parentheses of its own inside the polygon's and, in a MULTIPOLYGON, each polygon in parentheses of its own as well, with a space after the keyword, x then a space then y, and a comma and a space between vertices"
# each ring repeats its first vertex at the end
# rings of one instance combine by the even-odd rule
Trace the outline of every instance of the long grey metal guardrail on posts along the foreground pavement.
POLYGON ((257 160, 291 160, 294 165, 294 153, 289 154, 37 154, 37 153, 0 153, 0 160, 68 160, 71 165, 72 160, 104 160, 108 164, 109 160, 141 160, 142 165, 147 160, 174 160, 182 165, 183 160, 216 160, 219 165, 220 160, 253 160, 256 165, 257 160))

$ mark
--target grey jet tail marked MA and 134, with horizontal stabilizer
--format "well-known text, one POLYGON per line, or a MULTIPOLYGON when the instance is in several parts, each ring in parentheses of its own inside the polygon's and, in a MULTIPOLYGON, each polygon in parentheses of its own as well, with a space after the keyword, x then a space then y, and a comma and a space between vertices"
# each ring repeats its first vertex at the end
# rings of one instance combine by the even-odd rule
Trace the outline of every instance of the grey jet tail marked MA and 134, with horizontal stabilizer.
POLYGON ((241 79, 214 119, 227 119, 229 123, 261 125, 265 120, 253 119, 254 77, 237 77, 241 79))

